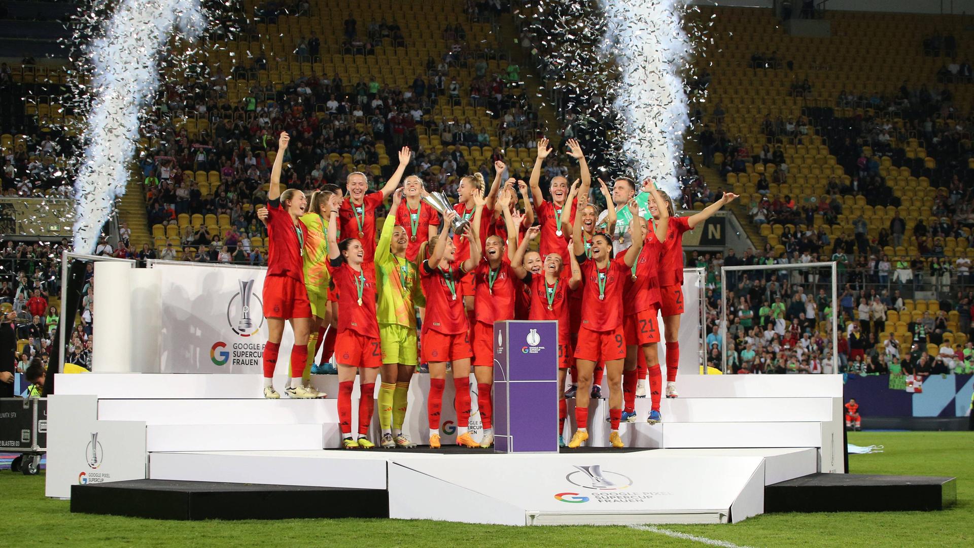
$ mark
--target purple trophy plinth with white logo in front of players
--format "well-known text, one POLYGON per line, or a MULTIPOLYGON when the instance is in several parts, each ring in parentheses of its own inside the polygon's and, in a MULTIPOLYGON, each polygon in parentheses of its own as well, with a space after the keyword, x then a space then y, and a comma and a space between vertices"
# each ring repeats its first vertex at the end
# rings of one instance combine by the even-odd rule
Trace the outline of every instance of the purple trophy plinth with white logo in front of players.
POLYGON ((558 452, 558 323, 494 324, 495 452, 558 452))

